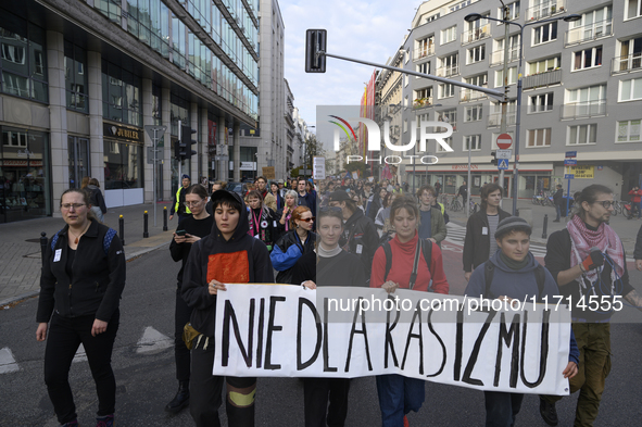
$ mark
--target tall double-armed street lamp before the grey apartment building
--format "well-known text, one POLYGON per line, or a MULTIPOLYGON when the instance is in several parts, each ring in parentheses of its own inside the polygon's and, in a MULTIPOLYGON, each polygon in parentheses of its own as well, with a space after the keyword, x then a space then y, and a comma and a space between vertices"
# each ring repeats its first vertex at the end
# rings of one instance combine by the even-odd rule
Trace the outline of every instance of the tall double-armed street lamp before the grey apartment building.
MULTIPOLYGON (((561 20, 566 21, 566 22, 574 22, 574 21, 579 21, 582 17, 580 15, 572 14, 572 15, 552 17, 549 20, 527 22, 523 25, 523 24, 518 24, 513 21, 498 20, 498 18, 491 17, 491 16, 483 16, 480 13, 469 13, 464 17, 464 21, 475 22, 475 21, 479 21, 482 18, 489 20, 489 21, 501 22, 503 24, 517 25, 519 27, 519 66, 517 67, 517 114, 515 116, 515 167, 513 169, 513 215, 516 215, 517 214, 517 178, 519 177, 519 127, 521 125, 521 59, 524 55, 524 28, 526 28, 529 25, 533 25, 533 24, 543 24, 546 22, 561 21, 561 20)), ((504 42, 507 43, 508 40, 504 40, 504 42)), ((504 60, 506 60, 506 59, 504 59, 504 60)), ((504 76, 504 77, 506 77, 506 76, 504 76)), ((502 184, 502 186, 504 185, 503 183, 501 183, 501 184, 502 184)))

